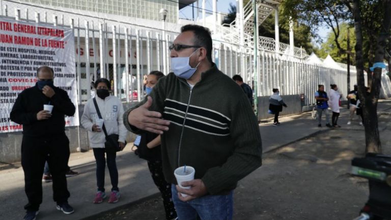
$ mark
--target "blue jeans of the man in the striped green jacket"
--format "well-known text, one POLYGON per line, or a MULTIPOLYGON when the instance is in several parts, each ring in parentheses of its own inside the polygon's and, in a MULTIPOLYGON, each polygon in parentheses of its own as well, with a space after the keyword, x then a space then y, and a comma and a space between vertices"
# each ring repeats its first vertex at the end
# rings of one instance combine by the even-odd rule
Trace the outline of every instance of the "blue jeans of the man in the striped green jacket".
POLYGON ((175 184, 171 185, 173 201, 179 220, 231 220, 234 206, 233 191, 228 195, 203 196, 188 202, 178 198, 175 184))

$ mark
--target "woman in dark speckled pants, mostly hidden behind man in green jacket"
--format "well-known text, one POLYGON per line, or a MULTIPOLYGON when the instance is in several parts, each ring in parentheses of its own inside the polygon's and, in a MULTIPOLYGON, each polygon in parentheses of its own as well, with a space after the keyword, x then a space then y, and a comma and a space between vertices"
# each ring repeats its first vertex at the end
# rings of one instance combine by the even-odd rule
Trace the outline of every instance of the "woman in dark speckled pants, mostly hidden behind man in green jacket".
MULTIPOLYGON (((160 71, 152 71, 147 77, 146 92, 149 95, 157 81, 162 78, 164 74, 160 71)), ((177 217, 174 202, 172 200, 171 183, 165 181, 163 174, 163 165, 161 159, 161 140, 160 135, 144 132, 139 138, 144 138, 137 144, 136 154, 142 159, 147 160, 149 171, 152 179, 160 191, 163 199, 165 219, 170 220, 177 217)), ((141 140, 140 139, 140 140, 141 140)))

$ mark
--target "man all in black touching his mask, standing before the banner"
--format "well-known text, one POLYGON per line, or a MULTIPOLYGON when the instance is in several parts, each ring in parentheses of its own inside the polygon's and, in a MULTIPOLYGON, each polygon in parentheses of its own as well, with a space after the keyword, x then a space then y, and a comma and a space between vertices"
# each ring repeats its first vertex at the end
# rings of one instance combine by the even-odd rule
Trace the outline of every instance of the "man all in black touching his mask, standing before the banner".
POLYGON ((67 189, 69 140, 65 135, 65 115, 72 116, 75 106, 66 91, 53 85, 54 72, 47 66, 38 68, 38 82, 23 90, 10 113, 11 120, 23 125, 21 162, 24 171, 24 188, 29 203, 24 206, 25 220, 38 214, 42 203, 42 173, 48 162, 53 178, 53 199, 57 209, 65 214, 73 213, 68 204, 67 189), (53 109, 43 110, 43 105, 53 109))

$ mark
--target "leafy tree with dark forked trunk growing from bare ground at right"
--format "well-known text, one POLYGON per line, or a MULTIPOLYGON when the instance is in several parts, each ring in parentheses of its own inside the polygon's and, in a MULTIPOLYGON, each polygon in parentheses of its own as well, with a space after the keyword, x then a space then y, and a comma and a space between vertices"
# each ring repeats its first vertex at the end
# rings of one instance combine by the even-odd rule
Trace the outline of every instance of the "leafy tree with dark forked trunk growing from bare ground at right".
POLYGON ((357 84, 364 114, 366 152, 381 152, 377 120, 377 102, 381 87, 381 69, 370 68, 383 62, 391 24, 391 0, 285 0, 282 16, 304 23, 316 33, 326 23, 334 34, 334 43, 341 54, 355 55, 357 84), (341 23, 354 24, 355 54, 343 47, 341 23), (368 63, 365 61, 368 58, 368 63), (365 66, 366 65, 366 66, 365 66), (364 70, 367 70, 369 95, 365 89, 364 70))

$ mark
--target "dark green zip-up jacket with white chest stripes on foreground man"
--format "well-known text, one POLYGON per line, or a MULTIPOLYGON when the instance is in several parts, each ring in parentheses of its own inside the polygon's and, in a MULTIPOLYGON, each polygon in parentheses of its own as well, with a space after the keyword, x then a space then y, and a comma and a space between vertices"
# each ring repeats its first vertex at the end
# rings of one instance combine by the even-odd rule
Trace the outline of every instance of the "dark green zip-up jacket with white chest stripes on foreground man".
MULTIPOLYGON (((192 89, 185 79, 170 73, 158 81, 151 97, 149 110, 171 121, 161 136, 167 182, 177 184, 174 170, 191 166, 194 178, 203 180, 209 194, 221 195, 262 165, 261 135, 252 106, 243 89, 214 64, 192 89)), ((128 122, 134 108, 124 113, 124 124, 137 134, 142 131, 128 122)))

